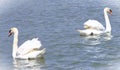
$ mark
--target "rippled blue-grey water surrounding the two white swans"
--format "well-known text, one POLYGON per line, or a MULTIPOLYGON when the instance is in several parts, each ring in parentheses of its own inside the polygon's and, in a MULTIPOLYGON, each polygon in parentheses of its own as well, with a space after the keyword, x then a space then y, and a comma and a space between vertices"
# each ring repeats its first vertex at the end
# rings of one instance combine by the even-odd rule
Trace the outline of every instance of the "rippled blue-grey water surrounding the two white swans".
POLYGON ((0 70, 120 70, 120 1, 0 0, 0 70), (76 30, 88 19, 105 26, 104 7, 113 11, 113 37, 88 42, 76 30), (19 45, 38 37, 44 58, 13 60, 11 27, 19 29, 19 45))

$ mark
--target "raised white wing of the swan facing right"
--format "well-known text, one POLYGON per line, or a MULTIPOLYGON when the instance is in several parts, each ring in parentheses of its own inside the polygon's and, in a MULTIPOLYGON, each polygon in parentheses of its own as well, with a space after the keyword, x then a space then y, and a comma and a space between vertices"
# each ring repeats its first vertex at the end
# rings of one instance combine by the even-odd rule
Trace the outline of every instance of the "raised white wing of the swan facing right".
POLYGON ((104 26, 98 22, 97 20, 88 20, 84 23, 84 28, 89 29, 97 29, 97 30, 105 30, 104 26), (87 26, 87 27, 85 27, 87 26))

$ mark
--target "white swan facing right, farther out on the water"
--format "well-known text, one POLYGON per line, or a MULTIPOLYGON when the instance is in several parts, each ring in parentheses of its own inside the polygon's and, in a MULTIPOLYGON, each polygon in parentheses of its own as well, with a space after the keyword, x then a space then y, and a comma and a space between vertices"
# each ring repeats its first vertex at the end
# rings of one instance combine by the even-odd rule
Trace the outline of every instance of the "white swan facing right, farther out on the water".
POLYGON ((111 34, 111 25, 109 21, 109 17, 107 13, 112 14, 112 10, 108 7, 104 8, 104 17, 106 22, 106 29, 104 26, 96 21, 96 20, 88 20, 84 23, 85 30, 77 30, 80 32, 80 35, 82 36, 90 36, 90 35, 100 35, 102 33, 105 33, 107 35, 111 34))

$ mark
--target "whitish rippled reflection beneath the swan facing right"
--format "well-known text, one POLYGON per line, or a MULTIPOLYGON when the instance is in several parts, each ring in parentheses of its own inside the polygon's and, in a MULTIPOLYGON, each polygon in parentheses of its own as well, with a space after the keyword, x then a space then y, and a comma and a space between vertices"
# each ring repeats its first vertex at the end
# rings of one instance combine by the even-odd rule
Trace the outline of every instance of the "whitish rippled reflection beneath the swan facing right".
POLYGON ((112 35, 106 36, 106 35, 101 35, 101 36, 82 36, 82 43, 86 45, 97 45, 101 44, 103 41, 108 41, 112 39, 112 35))

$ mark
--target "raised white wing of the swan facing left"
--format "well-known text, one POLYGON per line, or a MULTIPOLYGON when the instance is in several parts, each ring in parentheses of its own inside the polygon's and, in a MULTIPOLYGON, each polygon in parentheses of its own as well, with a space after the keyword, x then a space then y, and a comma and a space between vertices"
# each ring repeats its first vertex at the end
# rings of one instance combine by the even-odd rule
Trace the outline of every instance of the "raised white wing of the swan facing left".
POLYGON ((38 40, 38 38, 33 38, 32 40, 25 41, 17 50, 18 55, 24 55, 31 50, 34 49, 40 49, 41 42, 38 40))

